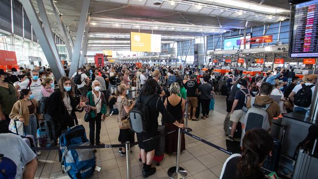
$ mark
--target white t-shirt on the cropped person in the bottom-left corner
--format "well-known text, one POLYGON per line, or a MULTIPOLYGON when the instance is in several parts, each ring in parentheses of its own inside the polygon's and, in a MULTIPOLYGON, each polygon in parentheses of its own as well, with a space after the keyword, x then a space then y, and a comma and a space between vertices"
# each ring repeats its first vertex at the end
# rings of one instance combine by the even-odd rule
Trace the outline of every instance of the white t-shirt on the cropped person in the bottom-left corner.
POLYGON ((36 155, 21 136, 16 134, 0 134, 0 144, 0 154, 3 155, 2 164, 5 164, 7 172, 16 172, 15 177, 12 177, 23 179, 23 167, 36 155))

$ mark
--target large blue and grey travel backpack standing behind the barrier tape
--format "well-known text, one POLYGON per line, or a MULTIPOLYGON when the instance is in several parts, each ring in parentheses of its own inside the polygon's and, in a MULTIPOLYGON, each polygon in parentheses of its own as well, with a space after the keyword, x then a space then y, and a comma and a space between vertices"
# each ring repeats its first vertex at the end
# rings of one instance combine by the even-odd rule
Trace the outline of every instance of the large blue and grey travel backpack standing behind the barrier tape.
POLYGON ((60 142, 60 161, 63 173, 68 173, 71 179, 85 179, 90 177, 95 170, 96 157, 92 149, 68 149, 67 146, 89 146, 83 125, 68 128, 62 134, 60 142))

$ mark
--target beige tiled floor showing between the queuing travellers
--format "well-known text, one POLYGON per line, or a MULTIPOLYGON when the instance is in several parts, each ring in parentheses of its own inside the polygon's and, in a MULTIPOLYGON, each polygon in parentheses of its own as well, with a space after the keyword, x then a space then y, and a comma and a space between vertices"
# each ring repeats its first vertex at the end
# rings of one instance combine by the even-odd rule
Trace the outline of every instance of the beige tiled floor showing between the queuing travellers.
MULTIPOLYGON (((210 112, 206 120, 189 121, 188 126, 193 129, 192 134, 200 136, 218 146, 226 148, 226 136, 223 131, 223 121, 226 114, 226 103, 223 96, 216 96, 215 110, 210 112)), ((89 133, 89 125, 84 122, 84 113, 78 113, 80 124, 83 124, 89 133)), ((118 144, 117 115, 107 117, 102 122, 101 142, 105 144, 118 144)), ((218 179, 224 161, 228 155, 210 147, 192 137, 185 135, 186 150, 181 154, 181 166, 188 172, 188 179, 218 179)), ((95 171, 91 178, 99 179, 126 179, 126 157, 120 157, 114 149, 98 149, 96 153, 97 166, 101 167, 99 172, 95 171)), ((139 148, 132 147, 131 155, 132 178, 142 179, 142 163, 139 162, 139 148)), ((40 179, 68 179, 62 174, 57 151, 43 151, 39 158, 39 167, 36 178, 40 179)), ((149 179, 168 179, 167 170, 176 165, 176 155, 165 155, 157 172, 149 179)))

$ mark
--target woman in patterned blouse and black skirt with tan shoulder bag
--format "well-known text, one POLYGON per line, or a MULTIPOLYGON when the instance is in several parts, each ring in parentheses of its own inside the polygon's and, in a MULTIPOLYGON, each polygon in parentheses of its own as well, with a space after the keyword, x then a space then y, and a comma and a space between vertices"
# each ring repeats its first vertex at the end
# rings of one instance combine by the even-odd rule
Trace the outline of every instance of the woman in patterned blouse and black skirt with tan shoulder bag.
MULTIPOLYGON (((117 108, 118 108, 118 116, 117 122, 119 127, 119 136, 118 141, 124 144, 126 141, 130 141, 131 143, 135 142, 135 133, 130 131, 130 124, 128 121, 128 114, 134 108, 135 103, 129 102, 126 98, 126 95, 129 93, 126 85, 121 84, 118 86, 119 96, 117 98, 117 108)), ((119 148, 118 152, 121 157, 126 156, 126 149, 119 148)))

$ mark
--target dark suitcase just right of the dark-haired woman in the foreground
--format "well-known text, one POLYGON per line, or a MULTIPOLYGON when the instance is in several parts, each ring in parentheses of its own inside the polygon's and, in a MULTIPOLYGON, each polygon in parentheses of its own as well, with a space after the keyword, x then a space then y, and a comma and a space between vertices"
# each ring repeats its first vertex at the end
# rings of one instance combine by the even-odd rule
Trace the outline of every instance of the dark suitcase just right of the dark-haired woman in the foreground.
POLYGON ((274 146, 272 150, 272 157, 271 156, 266 157, 263 163, 263 167, 269 171, 277 172, 278 166, 279 166, 280 153, 281 153, 281 142, 276 138, 273 138, 273 140, 274 140, 274 146))

